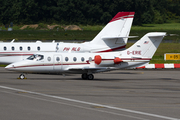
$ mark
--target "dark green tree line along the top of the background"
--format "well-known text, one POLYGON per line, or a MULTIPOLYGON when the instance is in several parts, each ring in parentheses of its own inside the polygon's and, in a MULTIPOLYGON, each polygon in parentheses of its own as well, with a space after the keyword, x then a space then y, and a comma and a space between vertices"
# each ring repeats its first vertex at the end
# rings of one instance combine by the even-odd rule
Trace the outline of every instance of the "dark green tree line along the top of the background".
POLYGON ((106 24, 119 11, 135 11, 134 24, 179 19, 180 0, 0 0, 0 23, 106 24))

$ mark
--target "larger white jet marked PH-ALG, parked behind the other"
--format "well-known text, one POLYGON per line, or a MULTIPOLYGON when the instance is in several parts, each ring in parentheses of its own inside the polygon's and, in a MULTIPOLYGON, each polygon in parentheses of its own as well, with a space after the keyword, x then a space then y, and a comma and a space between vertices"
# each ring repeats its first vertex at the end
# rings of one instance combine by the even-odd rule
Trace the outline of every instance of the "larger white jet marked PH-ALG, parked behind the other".
POLYGON ((10 64, 37 52, 86 52, 100 53, 123 50, 126 47, 132 26, 134 12, 118 12, 114 18, 90 42, 63 43, 37 41, 30 42, 0 42, 0 64, 10 64))

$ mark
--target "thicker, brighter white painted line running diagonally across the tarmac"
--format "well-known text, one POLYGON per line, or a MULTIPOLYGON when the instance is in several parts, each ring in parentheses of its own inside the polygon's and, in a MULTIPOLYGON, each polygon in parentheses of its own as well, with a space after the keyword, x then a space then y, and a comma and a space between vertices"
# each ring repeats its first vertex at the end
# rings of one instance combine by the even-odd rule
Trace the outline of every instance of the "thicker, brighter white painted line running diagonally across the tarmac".
POLYGON ((156 118, 162 118, 162 119, 167 119, 167 120, 180 120, 178 118, 166 117, 166 116, 162 116, 162 115, 156 115, 156 114, 145 113, 145 112, 141 112, 141 111, 118 108, 118 107, 113 107, 113 106, 108 106, 108 105, 103 105, 103 104, 90 103, 90 102, 85 102, 85 101, 80 101, 80 100, 75 100, 75 99, 69 99, 69 98, 64 98, 64 97, 59 97, 59 96, 53 96, 53 95, 47 95, 47 94, 43 94, 43 93, 32 92, 32 91, 27 91, 27 90, 22 90, 22 89, 16 89, 16 88, 11 88, 11 87, 6 87, 6 86, 0 86, 0 88, 9 89, 9 90, 13 90, 13 91, 19 91, 19 92, 26 92, 26 93, 30 93, 30 94, 36 94, 36 95, 40 95, 40 96, 56 98, 56 99, 86 104, 86 105, 101 106, 101 107, 105 107, 105 108, 109 108, 109 109, 125 111, 125 112, 140 114, 140 115, 146 115, 146 116, 151 116, 151 117, 156 117, 156 118))

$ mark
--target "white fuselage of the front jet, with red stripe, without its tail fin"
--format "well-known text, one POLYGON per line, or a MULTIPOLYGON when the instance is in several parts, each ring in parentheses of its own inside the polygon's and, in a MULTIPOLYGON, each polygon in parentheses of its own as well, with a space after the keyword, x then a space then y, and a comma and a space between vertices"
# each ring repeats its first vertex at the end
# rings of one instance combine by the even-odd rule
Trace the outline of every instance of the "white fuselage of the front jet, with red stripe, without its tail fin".
POLYGON ((12 63, 6 67, 8 70, 30 73, 92 73, 113 69, 135 68, 149 62, 151 58, 132 58, 120 56, 120 52, 111 53, 38 53, 43 59, 27 59, 12 63), (95 56, 101 56, 96 64, 95 56), (122 62, 115 63, 120 58, 122 62), (87 71, 88 70, 88 71, 87 71))

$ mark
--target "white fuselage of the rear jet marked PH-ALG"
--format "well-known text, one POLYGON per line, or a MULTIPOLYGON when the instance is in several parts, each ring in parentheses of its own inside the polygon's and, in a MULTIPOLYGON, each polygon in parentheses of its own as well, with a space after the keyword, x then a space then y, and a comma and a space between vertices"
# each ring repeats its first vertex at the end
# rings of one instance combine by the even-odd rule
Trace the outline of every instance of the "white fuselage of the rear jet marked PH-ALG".
POLYGON ((13 62, 21 61, 29 57, 30 55, 36 54, 37 52, 110 52, 115 50, 125 49, 126 44, 118 44, 117 46, 101 46, 93 45, 90 42, 85 43, 43 43, 43 42, 26 42, 26 43, 0 43, 0 64, 10 64, 13 62))

